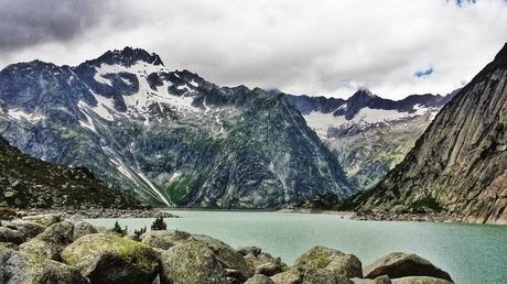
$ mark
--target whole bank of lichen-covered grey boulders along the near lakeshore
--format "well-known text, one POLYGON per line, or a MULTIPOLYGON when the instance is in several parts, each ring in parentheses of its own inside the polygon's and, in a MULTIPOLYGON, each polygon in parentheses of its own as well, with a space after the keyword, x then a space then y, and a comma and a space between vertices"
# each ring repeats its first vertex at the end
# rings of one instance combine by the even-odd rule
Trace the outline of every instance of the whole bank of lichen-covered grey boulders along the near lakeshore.
POLYGON ((353 254, 315 247, 289 266, 256 247, 233 249, 203 234, 125 237, 78 216, 41 215, 0 226, 0 283, 452 283, 429 261, 393 252, 363 266, 353 254))

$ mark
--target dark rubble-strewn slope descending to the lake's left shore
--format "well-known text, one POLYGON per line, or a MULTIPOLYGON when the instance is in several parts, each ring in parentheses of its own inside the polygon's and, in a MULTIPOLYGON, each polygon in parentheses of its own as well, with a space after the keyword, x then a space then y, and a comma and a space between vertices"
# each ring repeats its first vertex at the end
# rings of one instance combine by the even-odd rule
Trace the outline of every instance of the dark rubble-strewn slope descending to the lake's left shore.
POLYGON ((67 168, 22 154, 0 136, 0 203, 15 208, 138 208, 84 167, 67 168))

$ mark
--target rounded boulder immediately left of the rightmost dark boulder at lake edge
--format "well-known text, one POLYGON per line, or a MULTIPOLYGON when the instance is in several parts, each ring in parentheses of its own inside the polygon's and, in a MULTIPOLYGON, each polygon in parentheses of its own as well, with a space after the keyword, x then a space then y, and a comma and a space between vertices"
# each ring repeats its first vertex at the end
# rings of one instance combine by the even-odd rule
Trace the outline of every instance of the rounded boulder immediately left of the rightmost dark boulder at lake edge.
POLYGON ((326 269, 345 277, 363 277, 360 261, 353 254, 341 251, 314 247, 295 260, 295 269, 302 271, 326 269))

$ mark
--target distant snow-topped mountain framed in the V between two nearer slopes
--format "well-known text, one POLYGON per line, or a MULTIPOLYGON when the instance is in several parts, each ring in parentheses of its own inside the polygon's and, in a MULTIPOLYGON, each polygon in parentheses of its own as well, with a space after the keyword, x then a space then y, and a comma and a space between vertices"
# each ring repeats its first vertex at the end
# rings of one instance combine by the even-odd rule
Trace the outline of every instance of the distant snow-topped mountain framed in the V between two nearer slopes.
POLYGON ((301 111, 358 190, 375 185, 400 163, 455 94, 411 95, 389 100, 359 89, 347 100, 287 94, 284 100, 301 111))

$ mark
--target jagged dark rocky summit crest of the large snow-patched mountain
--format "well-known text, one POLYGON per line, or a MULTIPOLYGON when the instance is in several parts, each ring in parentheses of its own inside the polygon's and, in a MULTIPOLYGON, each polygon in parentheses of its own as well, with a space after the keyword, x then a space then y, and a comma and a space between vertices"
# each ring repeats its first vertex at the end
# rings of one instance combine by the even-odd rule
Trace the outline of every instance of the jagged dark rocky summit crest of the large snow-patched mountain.
POLYGON ((97 59, 93 62, 106 63, 106 64, 120 64, 123 66, 131 66, 136 62, 145 62, 152 65, 162 65, 162 59, 158 54, 149 53, 142 48, 133 48, 131 46, 126 46, 123 50, 114 50, 108 51, 97 59))

